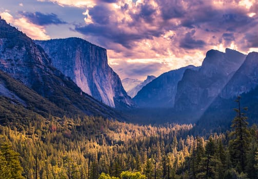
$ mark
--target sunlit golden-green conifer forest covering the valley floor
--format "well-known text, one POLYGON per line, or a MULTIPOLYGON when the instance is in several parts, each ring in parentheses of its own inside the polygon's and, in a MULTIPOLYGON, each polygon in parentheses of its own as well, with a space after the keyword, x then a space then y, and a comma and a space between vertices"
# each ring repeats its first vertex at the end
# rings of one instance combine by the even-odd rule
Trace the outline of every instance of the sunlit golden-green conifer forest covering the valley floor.
POLYGON ((247 108, 234 110, 230 130, 206 136, 193 136, 192 124, 33 114, 6 119, 0 178, 258 178, 257 126, 248 125, 247 108))

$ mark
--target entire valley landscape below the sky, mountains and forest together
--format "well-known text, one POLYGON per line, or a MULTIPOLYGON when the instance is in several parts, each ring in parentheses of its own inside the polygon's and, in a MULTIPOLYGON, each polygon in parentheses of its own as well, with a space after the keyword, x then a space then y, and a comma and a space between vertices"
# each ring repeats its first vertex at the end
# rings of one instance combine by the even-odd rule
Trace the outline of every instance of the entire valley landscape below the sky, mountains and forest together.
POLYGON ((257 67, 257 52, 209 50, 121 80, 106 49, 1 18, 0 178, 257 178, 257 67))

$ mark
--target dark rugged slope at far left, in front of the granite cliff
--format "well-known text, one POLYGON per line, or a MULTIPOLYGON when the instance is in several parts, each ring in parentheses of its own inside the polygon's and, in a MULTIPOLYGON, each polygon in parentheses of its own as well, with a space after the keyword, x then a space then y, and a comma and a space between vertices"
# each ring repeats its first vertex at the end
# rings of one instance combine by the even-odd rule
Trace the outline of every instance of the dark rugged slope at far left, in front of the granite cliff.
MULTIPOLYGON (((8 25, 3 19, 0 19, 0 70, 48 99, 53 103, 52 105, 62 109, 60 116, 87 114, 108 118, 119 117, 114 109, 82 92, 72 80, 52 66, 51 60, 41 47, 37 46, 24 33, 8 25)), ((14 86, 11 88, 16 88, 15 84, 16 82, 13 84, 2 83, 2 88, 8 94, 7 89, 10 89, 9 87, 12 85, 14 86)), ((21 94, 17 94, 23 93, 25 89, 17 88, 16 90, 17 92, 14 94, 24 101, 18 100, 19 103, 24 103, 25 107, 30 106, 20 96, 21 94)), ((11 92, 9 94, 12 96, 11 92)), ((29 95, 28 98, 38 97, 29 95)), ((35 103, 37 102, 41 101, 35 103)), ((35 106, 35 103, 32 107, 35 106)), ((51 114, 51 110, 46 112, 51 114)))

